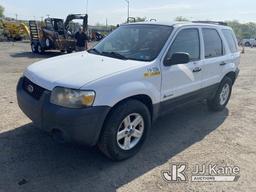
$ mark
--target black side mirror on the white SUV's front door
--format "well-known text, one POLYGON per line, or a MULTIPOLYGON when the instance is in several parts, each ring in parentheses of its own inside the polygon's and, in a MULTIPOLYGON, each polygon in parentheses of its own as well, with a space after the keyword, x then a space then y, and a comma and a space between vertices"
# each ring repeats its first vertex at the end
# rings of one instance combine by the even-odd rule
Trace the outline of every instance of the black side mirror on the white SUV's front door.
POLYGON ((165 66, 185 64, 190 61, 190 55, 188 53, 174 53, 170 58, 165 60, 165 66))

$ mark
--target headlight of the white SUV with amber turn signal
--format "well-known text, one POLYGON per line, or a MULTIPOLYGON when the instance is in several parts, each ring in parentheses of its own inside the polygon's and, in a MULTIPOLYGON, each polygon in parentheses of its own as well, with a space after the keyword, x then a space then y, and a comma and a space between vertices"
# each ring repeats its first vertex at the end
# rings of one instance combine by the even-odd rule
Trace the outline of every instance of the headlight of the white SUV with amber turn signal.
POLYGON ((51 94, 51 103, 68 108, 92 106, 95 99, 94 91, 82 91, 56 87, 51 94))

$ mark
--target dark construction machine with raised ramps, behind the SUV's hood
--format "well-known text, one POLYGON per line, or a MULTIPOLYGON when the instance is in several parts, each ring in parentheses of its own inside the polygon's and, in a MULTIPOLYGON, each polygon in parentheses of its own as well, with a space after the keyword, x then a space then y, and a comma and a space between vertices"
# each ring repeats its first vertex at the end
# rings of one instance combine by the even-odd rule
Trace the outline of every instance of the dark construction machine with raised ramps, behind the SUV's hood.
POLYGON ((43 54, 46 50, 59 50, 63 53, 75 51, 75 33, 80 25, 75 27, 73 20, 82 20, 82 26, 87 30, 87 14, 71 14, 65 21, 59 18, 46 18, 43 22, 29 21, 32 52, 43 54))

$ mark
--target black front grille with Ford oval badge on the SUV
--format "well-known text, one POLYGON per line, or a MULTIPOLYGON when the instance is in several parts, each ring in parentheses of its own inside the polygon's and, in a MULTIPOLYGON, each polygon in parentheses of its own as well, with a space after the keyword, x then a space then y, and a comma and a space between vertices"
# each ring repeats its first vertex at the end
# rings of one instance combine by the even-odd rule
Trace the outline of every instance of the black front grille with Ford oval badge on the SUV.
POLYGON ((43 95, 43 92, 45 91, 44 88, 36 85, 32 81, 30 81, 28 78, 24 77, 22 88, 32 97, 39 100, 41 96, 43 95))

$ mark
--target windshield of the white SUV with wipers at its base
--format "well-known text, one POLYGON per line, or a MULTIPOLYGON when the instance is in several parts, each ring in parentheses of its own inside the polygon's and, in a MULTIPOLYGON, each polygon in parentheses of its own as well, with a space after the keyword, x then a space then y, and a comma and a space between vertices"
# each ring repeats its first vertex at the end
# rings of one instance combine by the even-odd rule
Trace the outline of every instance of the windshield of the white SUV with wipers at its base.
POLYGON ((160 53, 172 29, 162 25, 124 25, 89 52, 118 59, 152 61, 160 53))

